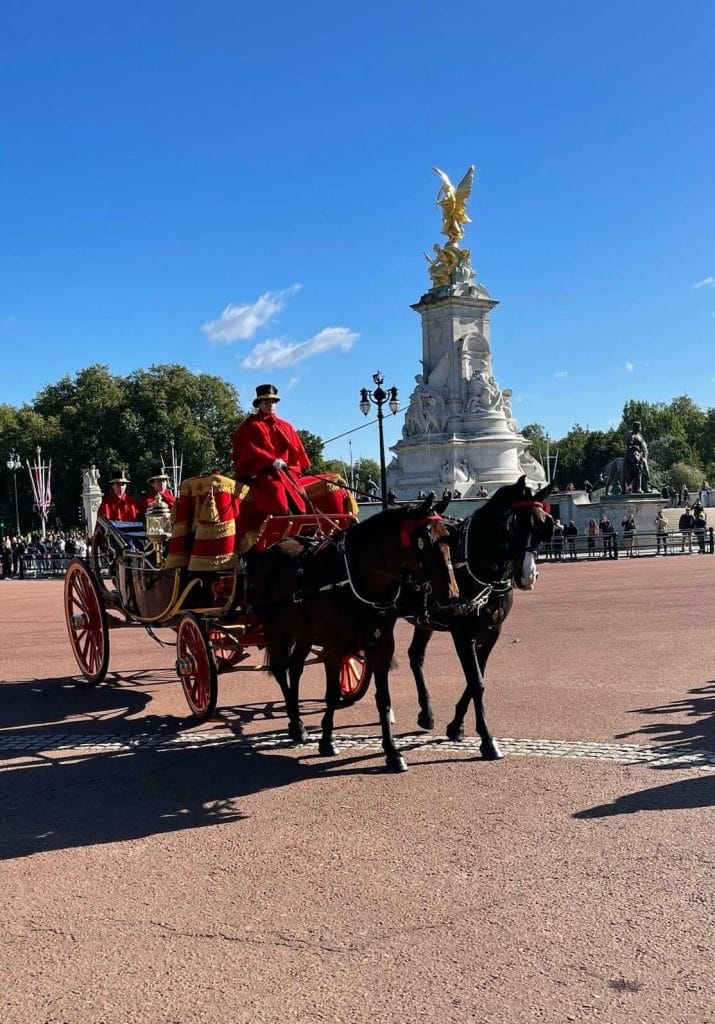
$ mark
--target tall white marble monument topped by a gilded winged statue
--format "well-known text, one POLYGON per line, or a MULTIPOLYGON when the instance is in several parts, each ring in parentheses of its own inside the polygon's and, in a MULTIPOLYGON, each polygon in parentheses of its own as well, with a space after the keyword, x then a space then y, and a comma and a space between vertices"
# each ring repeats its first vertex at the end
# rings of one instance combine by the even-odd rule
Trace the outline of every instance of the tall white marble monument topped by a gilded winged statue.
POLYGON ((432 287, 413 305, 422 317, 422 372, 415 377, 402 439, 391 449, 387 482, 402 499, 447 486, 472 497, 481 485, 492 493, 525 473, 544 482, 529 441, 516 430, 512 391, 500 387, 492 362, 490 314, 498 305, 477 284, 471 252, 460 246, 474 168, 458 185, 441 179, 436 205, 444 245, 425 253, 432 287))

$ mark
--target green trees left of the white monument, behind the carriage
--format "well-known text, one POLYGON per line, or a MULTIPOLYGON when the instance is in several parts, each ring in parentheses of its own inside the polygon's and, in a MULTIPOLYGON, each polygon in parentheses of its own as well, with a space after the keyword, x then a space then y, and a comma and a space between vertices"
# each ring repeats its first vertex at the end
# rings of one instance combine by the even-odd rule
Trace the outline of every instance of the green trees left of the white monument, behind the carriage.
MULTIPOLYGON (((115 470, 125 470, 129 489, 138 495, 157 466, 170 466, 173 441, 184 478, 226 472, 232 467, 230 436, 246 415, 227 381, 173 364, 127 376, 96 364, 48 385, 19 408, 0 404, 0 528, 15 526, 13 471, 7 467, 11 451, 22 458, 16 483, 23 529, 39 525, 26 464, 35 462, 38 446, 43 462, 52 460, 49 524, 67 529, 82 522, 83 469, 95 466, 104 488, 115 470)), ((324 442, 317 434, 300 429, 298 434, 314 472, 347 470, 340 462, 324 460, 324 442)), ((368 477, 379 478, 377 464, 369 459, 353 470, 359 486, 368 477)))

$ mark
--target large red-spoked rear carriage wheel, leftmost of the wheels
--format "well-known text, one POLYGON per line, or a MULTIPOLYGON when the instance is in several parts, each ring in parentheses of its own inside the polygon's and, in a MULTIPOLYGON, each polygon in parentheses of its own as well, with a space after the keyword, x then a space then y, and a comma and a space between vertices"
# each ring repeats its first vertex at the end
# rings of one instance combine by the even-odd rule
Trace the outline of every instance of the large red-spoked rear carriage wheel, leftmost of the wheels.
POLYGON ((100 683, 110 664, 110 628, 99 585, 79 558, 65 574, 65 620, 80 672, 92 686, 100 683))

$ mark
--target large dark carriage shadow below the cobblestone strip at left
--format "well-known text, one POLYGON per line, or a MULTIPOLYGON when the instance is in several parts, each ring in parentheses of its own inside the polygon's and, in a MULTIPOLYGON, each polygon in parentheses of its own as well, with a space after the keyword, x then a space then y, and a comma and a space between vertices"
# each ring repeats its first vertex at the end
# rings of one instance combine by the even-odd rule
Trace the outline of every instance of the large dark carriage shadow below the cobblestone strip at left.
POLYGON ((236 743, 26 756, 0 774, 0 859, 248 820, 243 799, 318 774, 236 743))

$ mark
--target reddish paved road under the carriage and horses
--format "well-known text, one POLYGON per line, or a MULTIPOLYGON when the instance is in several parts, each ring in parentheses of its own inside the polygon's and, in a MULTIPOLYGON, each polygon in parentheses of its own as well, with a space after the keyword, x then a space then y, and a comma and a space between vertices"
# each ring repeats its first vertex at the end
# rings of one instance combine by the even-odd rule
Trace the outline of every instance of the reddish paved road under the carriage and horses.
POLYGON ((143 631, 79 687, 61 585, 0 583, 0 1020, 711 1022, 714 572, 543 567, 490 666, 496 764, 439 741, 446 637, 416 730, 401 628, 401 776, 371 696, 336 759, 286 745, 257 658, 200 728, 143 631))

